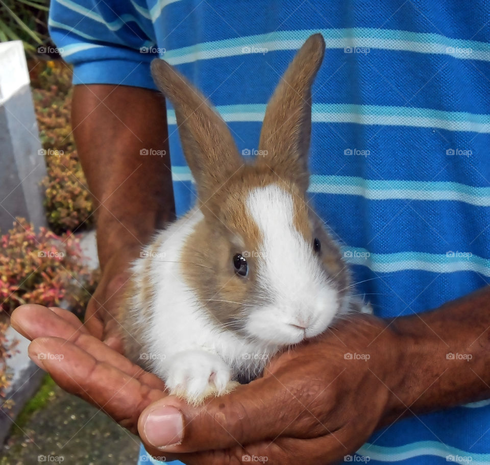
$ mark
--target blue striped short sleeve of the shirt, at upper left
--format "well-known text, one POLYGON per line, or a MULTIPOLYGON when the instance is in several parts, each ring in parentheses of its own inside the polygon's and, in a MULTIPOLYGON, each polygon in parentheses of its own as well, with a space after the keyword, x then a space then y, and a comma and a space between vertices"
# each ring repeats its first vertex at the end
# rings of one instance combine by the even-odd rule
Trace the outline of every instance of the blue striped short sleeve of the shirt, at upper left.
POLYGON ((156 89, 150 63, 155 46, 148 9, 135 2, 53 0, 48 21, 74 84, 117 84, 156 89))

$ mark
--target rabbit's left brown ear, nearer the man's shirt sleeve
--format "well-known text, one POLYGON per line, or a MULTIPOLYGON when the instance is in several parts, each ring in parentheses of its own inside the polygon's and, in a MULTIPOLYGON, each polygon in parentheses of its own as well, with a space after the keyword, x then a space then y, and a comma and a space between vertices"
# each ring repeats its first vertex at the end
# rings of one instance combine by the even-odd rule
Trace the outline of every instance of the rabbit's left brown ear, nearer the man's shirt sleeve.
POLYGON ((175 108, 185 159, 206 202, 243 164, 225 121, 173 66, 152 62, 158 88, 175 108))

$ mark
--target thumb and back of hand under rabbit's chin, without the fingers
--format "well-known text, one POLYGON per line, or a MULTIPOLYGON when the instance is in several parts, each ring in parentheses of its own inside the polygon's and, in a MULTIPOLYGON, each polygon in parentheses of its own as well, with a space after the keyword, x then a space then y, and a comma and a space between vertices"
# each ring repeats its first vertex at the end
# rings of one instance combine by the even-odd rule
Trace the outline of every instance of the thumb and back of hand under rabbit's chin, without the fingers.
POLYGON ((200 408, 158 400, 143 410, 138 431, 154 455, 208 451, 196 461, 189 455, 189 464, 334 463, 400 408, 393 391, 405 375, 401 347, 386 322, 359 314, 200 408))

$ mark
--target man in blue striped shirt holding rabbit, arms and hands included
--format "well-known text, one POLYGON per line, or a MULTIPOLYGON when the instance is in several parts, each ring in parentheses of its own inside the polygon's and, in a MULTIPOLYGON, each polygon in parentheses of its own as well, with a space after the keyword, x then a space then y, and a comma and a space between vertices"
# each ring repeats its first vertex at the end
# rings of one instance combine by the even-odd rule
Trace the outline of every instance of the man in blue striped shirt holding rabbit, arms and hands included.
POLYGON ((58 308, 14 312, 33 359, 158 460, 490 462, 489 13, 456 0, 53 2, 103 274, 84 325, 58 308), (150 62, 201 88, 250 154, 274 87, 314 32, 327 52, 301 134, 311 129, 308 194, 374 315, 339 320, 193 407, 121 354, 115 319, 129 264, 195 196, 179 115, 150 62))

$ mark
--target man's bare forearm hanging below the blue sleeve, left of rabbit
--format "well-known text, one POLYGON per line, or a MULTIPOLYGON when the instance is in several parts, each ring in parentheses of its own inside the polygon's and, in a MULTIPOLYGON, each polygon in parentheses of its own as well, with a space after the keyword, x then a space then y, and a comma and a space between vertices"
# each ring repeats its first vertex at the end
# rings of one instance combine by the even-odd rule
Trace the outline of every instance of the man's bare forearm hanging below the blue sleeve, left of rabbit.
POLYGON ((141 247, 174 218, 165 101, 137 87, 76 86, 72 127, 104 266, 113 253, 141 247), (165 155, 143 156, 142 149, 165 155))

